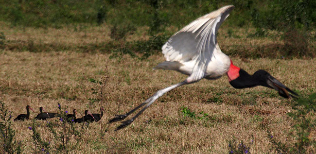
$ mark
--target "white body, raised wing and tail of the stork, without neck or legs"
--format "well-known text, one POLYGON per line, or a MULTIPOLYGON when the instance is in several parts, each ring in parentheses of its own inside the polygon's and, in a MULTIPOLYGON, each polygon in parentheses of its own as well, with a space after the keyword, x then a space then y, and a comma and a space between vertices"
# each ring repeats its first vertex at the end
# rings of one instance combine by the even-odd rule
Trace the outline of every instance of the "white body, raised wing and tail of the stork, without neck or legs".
POLYGON ((233 8, 233 5, 224 6, 199 17, 171 36, 162 47, 166 61, 156 68, 187 74, 189 83, 224 75, 229 70, 230 59, 219 48, 216 33, 233 8))

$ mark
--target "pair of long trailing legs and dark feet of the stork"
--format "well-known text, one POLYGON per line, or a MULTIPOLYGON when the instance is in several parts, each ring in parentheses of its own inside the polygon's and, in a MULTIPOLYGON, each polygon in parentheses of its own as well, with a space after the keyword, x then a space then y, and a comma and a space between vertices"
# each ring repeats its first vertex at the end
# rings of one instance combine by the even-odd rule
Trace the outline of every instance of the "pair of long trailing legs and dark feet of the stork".
POLYGON ((134 108, 133 110, 129 111, 128 113, 124 114, 124 115, 117 115, 115 118, 113 118, 112 120, 109 121, 110 122, 115 122, 115 121, 119 121, 119 120, 123 120, 124 118, 126 118, 128 115, 130 115, 131 113, 133 113, 134 111, 136 111, 137 109, 139 109, 141 106, 143 106, 144 104, 146 104, 146 106, 144 108, 142 108, 140 110, 139 113, 137 113, 132 119, 130 120, 126 120, 124 121, 119 127, 117 127, 115 129, 115 131, 122 129, 126 126, 128 126, 129 124, 131 124, 138 116, 140 116, 140 114, 142 112, 144 112, 146 110, 146 108, 148 108, 152 103, 154 103, 159 97, 161 97, 163 94, 165 94, 166 92, 179 87, 179 86, 183 86, 185 84, 189 84, 189 82, 187 80, 180 82, 176 85, 172 85, 172 86, 168 86, 164 89, 160 89, 158 90, 152 97, 150 97, 149 99, 147 99, 144 103, 141 103, 139 106, 137 106, 136 108, 134 108))

